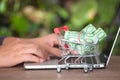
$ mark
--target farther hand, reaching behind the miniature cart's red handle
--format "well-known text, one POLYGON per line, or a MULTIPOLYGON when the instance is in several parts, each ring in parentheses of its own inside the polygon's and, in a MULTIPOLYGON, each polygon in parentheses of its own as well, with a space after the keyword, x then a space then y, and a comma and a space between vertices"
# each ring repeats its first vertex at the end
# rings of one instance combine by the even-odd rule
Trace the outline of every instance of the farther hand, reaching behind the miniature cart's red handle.
POLYGON ((55 46, 59 46, 57 35, 50 34, 40 38, 33 38, 30 41, 42 46, 42 49, 46 51, 47 54, 52 54, 54 56, 61 57, 61 50, 55 46))

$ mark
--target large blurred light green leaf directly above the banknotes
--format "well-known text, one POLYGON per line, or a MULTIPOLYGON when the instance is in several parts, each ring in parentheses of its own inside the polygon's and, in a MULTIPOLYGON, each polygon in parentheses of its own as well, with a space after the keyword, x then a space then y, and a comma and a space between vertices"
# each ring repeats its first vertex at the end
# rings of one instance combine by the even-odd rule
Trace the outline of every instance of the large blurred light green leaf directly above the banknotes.
POLYGON ((82 25, 93 20, 97 13, 97 3, 95 0, 79 0, 71 7, 70 22, 74 27, 80 28, 82 25))

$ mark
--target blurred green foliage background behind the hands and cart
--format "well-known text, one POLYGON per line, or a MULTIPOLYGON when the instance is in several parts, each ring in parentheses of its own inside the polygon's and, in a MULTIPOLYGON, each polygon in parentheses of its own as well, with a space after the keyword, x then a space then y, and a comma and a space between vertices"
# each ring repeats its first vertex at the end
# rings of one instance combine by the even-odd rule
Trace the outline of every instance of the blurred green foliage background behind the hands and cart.
MULTIPOLYGON (((108 34, 104 51, 120 26, 120 0, 0 0, 0 36, 40 37, 68 25, 80 31, 89 23, 108 34)), ((120 55, 120 38, 113 55, 120 55)))

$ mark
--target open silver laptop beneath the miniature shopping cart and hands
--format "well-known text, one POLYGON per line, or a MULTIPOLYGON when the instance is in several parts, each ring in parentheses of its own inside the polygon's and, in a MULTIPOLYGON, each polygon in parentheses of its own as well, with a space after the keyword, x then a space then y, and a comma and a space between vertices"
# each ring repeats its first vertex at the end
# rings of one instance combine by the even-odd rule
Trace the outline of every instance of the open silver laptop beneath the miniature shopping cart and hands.
MULTIPOLYGON (((117 41, 117 38, 118 38, 119 32, 120 32, 120 27, 116 27, 116 28, 118 28, 118 29, 116 30, 114 38, 112 38, 113 40, 111 39, 112 45, 111 45, 110 49, 102 51, 102 53, 97 58, 98 61, 94 62, 94 64, 92 64, 93 68, 105 68, 108 66, 111 55, 113 53, 113 49, 115 47, 115 44, 116 44, 116 41, 117 41)), ((60 63, 58 65, 58 63, 59 63, 59 59, 53 57, 51 60, 46 61, 44 63, 25 62, 24 69, 33 69, 33 70, 40 69, 41 70, 41 69, 57 69, 58 67, 61 69, 66 68, 66 64, 60 63)), ((84 64, 78 64, 78 65, 70 64, 70 65, 68 65, 68 67, 69 68, 85 68, 85 65, 84 64)))

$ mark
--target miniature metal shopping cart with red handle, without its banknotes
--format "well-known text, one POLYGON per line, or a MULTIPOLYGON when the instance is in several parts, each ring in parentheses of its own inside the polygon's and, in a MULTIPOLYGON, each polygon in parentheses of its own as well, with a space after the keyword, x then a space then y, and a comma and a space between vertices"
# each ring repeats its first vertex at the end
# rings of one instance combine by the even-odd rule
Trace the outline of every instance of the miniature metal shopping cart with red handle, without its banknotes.
POLYGON ((98 61, 98 44, 88 44, 80 43, 76 41, 70 41, 64 39, 64 34, 68 31, 67 26, 58 27, 54 29, 54 32, 58 35, 59 48, 62 50, 62 58, 59 60, 57 65, 57 72, 61 72, 62 68, 83 68, 86 73, 88 71, 93 71, 93 65, 95 61, 98 61), (72 48, 70 45, 74 46, 92 46, 92 50, 85 51, 84 55, 78 51, 77 48, 72 48))

